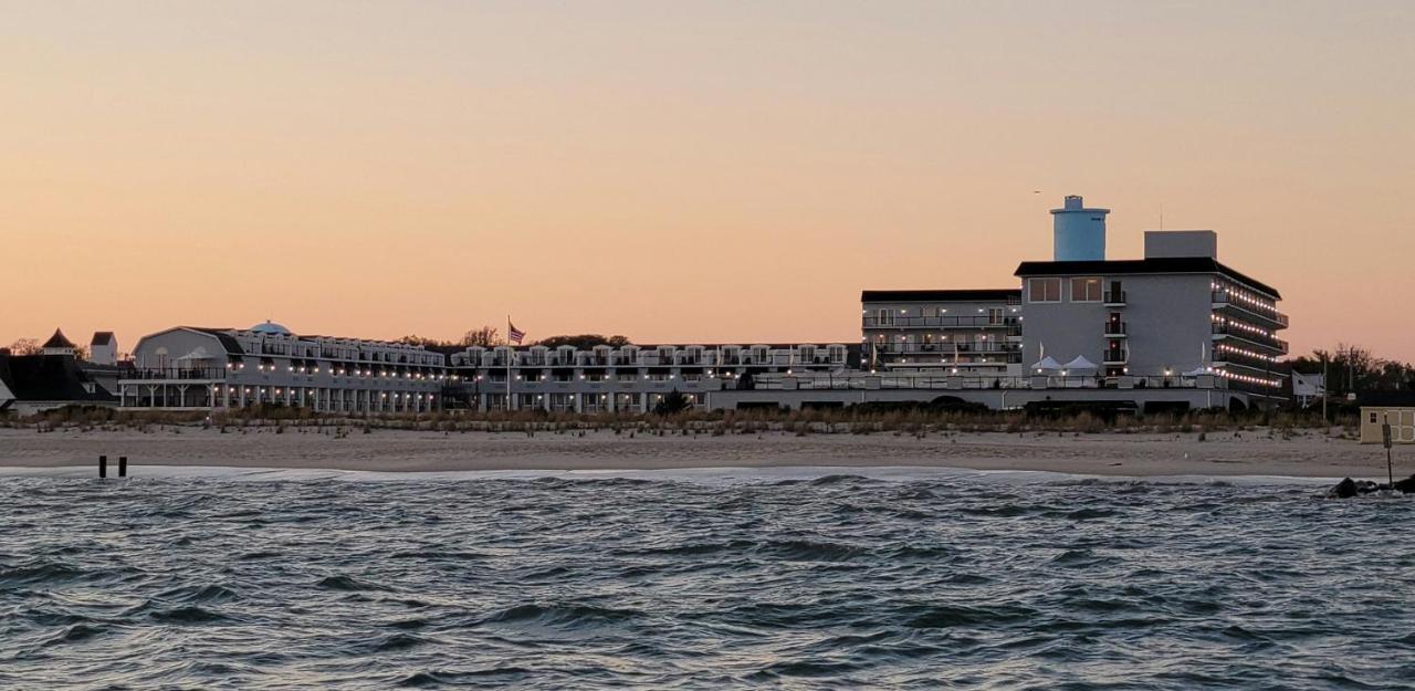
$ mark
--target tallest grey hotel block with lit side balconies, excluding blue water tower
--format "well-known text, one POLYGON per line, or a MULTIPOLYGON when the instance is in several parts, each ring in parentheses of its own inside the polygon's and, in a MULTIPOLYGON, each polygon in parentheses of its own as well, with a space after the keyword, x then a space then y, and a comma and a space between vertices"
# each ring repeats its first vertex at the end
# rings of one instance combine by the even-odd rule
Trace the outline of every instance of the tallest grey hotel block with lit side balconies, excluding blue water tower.
POLYGON ((1215 375, 1278 395, 1288 327, 1281 296, 1217 259, 1211 231, 1145 234, 1145 258, 1024 262, 1029 362, 1092 362, 1104 381, 1215 375))

